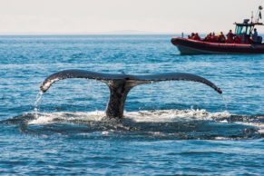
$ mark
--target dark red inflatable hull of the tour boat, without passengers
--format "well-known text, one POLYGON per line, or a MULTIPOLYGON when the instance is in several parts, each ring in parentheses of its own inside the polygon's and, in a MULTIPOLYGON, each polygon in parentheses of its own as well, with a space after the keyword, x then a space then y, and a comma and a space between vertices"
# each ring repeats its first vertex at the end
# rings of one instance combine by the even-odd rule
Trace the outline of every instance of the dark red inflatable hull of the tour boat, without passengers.
POLYGON ((219 44, 175 37, 181 54, 264 54, 264 44, 219 44))

